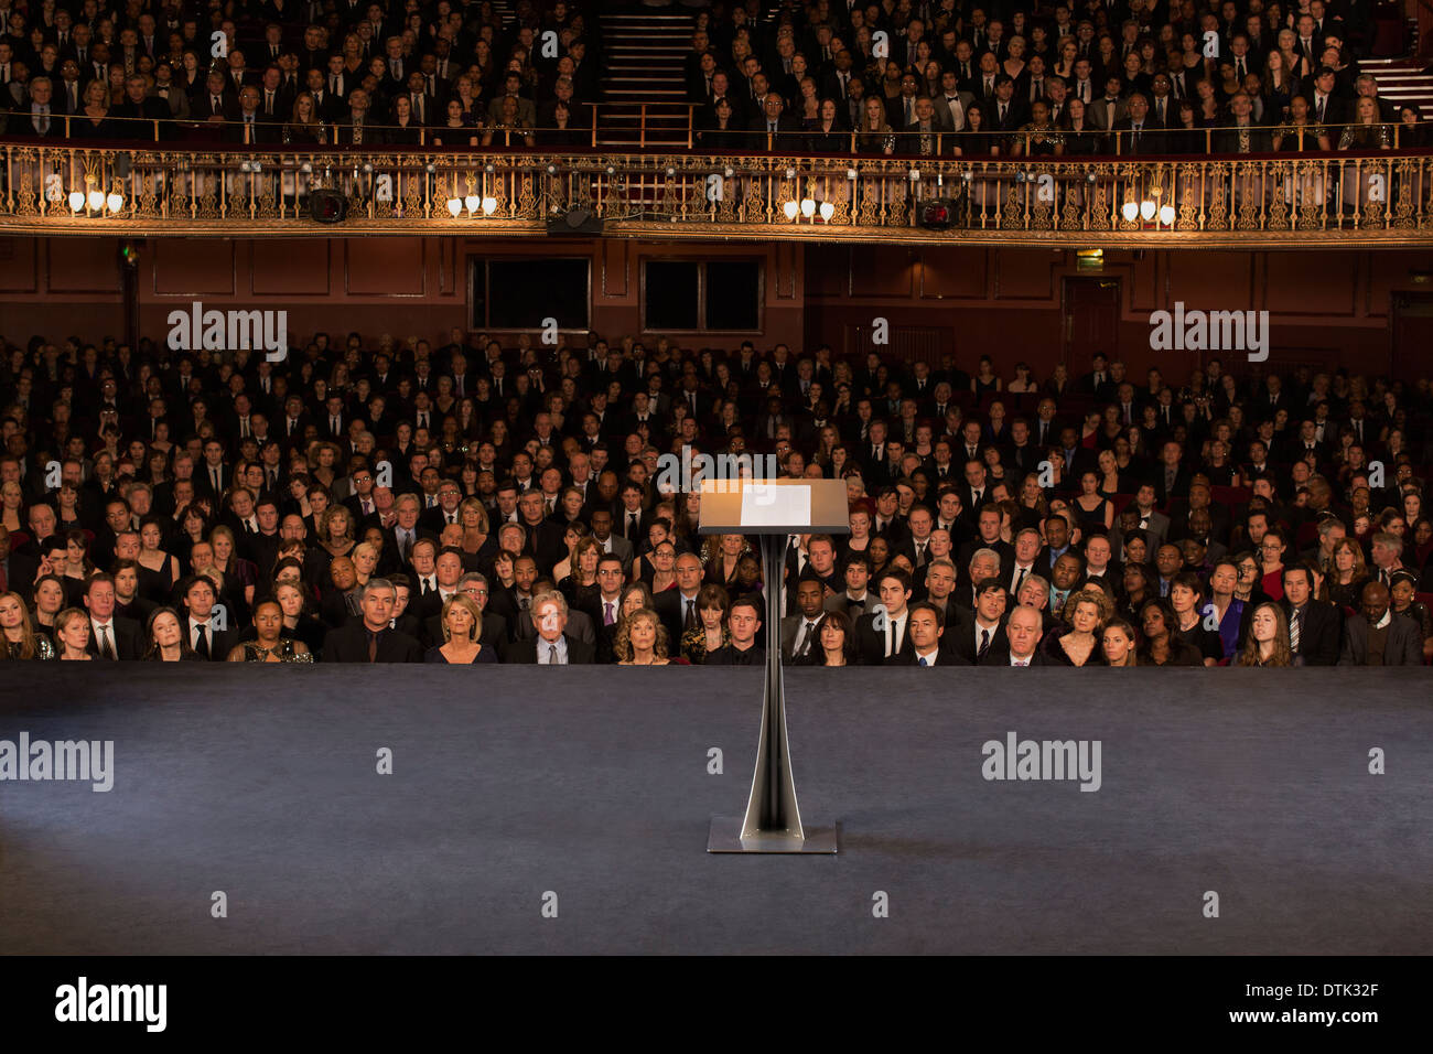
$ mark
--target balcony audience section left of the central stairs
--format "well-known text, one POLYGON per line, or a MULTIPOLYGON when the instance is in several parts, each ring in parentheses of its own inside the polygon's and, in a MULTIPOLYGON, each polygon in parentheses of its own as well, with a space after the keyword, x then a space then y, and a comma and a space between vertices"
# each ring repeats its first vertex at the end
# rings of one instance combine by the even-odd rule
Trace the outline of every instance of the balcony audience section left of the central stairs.
POLYGON ((590 142, 596 19, 569 0, 4 4, 0 129, 36 139, 590 142))

